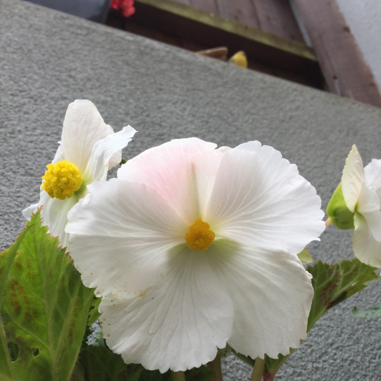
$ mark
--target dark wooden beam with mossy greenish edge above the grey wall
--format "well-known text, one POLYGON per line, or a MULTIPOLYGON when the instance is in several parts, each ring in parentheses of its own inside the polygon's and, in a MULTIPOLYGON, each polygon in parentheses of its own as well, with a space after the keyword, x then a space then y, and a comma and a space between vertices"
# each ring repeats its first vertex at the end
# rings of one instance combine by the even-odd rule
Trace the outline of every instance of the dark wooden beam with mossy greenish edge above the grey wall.
POLYGON ((235 44, 239 47, 237 50, 245 50, 248 55, 271 66, 290 69, 293 65, 317 64, 312 49, 304 43, 281 38, 177 1, 136 0, 135 7, 134 21, 211 47, 226 45, 230 49, 229 44, 235 44))

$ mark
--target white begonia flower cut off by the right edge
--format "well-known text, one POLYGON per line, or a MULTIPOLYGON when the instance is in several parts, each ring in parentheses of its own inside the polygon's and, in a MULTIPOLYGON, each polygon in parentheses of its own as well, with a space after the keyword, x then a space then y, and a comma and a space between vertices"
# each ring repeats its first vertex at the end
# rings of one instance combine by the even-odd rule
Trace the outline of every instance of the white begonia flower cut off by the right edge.
POLYGON ((354 214, 353 251, 363 263, 381 268, 381 160, 364 168, 354 144, 345 160, 341 188, 347 208, 354 214))

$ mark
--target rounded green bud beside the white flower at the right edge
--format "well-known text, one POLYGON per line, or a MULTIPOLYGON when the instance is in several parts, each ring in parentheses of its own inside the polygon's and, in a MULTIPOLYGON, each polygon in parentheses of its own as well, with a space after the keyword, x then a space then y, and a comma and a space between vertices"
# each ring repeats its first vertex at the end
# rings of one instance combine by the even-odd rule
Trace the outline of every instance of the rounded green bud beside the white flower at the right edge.
POLYGON ((341 182, 332 195, 327 205, 327 214, 335 226, 342 230, 355 229, 352 213, 345 204, 344 196, 341 190, 341 182))

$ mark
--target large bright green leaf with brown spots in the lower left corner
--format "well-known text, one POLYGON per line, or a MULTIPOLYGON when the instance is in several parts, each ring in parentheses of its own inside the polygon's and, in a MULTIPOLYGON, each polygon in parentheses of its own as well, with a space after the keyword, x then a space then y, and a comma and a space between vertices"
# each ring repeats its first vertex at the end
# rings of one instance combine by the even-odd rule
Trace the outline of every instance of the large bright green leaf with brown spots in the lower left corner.
POLYGON ((92 300, 37 212, 0 254, 0 379, 69 381, 92 300))

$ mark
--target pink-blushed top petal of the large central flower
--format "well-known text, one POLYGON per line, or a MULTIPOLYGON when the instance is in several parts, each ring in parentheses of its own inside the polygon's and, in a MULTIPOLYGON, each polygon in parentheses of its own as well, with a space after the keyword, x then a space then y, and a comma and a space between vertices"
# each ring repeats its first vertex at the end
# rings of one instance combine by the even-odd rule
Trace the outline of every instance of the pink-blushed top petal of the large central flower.
POLYGON ((197 138, 176 139, 146 150, 118 170, 118 178, 141 182, 160 193, 188 225, 204 210, 227 147, 197 138))

